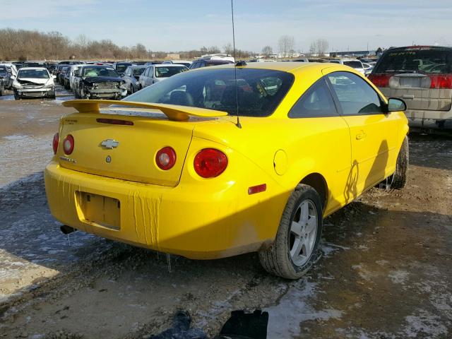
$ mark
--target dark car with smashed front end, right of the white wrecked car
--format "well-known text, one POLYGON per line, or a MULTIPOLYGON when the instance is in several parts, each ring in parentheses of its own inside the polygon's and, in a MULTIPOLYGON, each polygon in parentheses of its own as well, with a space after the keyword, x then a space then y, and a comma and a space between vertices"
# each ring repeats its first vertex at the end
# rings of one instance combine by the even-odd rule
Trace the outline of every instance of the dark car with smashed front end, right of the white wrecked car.
POLYGON ((76 97, 121 100, 127 95, 124 81, 112 67, 84 65, 76 74, 73 82, 76 97))

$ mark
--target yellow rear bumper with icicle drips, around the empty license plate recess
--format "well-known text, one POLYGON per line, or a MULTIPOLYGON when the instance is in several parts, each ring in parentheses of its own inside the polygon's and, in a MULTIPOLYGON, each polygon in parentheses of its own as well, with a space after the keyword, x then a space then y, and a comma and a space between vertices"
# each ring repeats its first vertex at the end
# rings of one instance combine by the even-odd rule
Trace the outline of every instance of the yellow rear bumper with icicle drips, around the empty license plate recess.
POLYGON ((271 243, 288 194, 249 196, 234 183, 206 194, 190 185, 165 187, 76 172, 57 162, 47 165, 44 179, 52 215, 64 225, 197 259, 234 256, 271 243), (86 220, 81 193, 117 199, 119 227, 86 220))

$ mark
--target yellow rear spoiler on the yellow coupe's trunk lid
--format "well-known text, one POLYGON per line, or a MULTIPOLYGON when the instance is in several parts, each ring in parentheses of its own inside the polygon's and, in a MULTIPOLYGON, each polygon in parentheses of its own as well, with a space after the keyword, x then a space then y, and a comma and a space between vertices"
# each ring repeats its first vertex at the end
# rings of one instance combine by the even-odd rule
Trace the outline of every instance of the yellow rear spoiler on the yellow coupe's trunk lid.
POLYGON ((158 109, 172 121, 187 121, 190 117, 224 117, 227 115, 227 112, 215 111, 213 109, 148 102, 117 100, 68 100, 63 102, 64 107, 73 107, 77 109, 79 113, 100 113, 100 105, 158 109))

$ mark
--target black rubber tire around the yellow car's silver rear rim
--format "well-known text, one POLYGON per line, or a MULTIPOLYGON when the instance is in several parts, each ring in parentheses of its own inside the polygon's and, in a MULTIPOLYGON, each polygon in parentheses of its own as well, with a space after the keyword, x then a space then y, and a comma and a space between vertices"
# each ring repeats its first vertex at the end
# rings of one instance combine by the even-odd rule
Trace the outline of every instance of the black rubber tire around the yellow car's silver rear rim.
MULTIPOLYGON (((295 220, 297 221, 297 220, 295 220)), ((302 229, 300 233, 308 232, 307 226, 302 225, 302 229)), ((322 213, 322 203, 319 197, 319 194, 313 189, 311 186, 299 184, 295 188, 295 191, 290 195, 289 200, 285 206, 283 215, 280 220, 280 226, 278 227, 278 232, 276 233, 275 242, 269 249, 262 249, 258 252, 259 260, 261 261, 261 265, 263 268, 271 274, 278 275, 280 277, 286 279, 299 279, 301 278, 309 269, 311 269, 312 265, 316 261, 319 256, 319 243, 321 239, 323 225, 323 213, 322 213), (304 256, 304 261, 297 263, 292 258, 290 251, 292 247, 295 247, 295 243, 297 242, 297 237, 295 233, 292 232, 292 222, 295 219, 299 218, 299 223, 301 224, 301 215, 298 214, 298 211, 301 212, 302 206, 304 203, 308 204, 308 219, 311 220, 310 213, 316 215, 316 226, 315 234, 311 234, 311 244, 312 241, 312 249, 309 255, 304 256), (315 208, 315 210, 314 210, 315 208), (294 241, 292 243, 292 240, 294 241)), ((304 237, 303 239, 306 239, 304 237)), ((298 258, 302 258, 298 256, 298 258)))

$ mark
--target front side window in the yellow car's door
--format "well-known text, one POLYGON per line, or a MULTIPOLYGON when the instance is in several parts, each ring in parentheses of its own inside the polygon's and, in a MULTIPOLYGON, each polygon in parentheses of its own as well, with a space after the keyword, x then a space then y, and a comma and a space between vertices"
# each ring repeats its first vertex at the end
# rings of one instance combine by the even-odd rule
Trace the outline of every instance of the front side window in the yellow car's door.
POLYGON ((338 98, 342 114, 378 114, 381 100, 371 85, 359 76, 347 72, 328 74, 331 88, 338 98))

